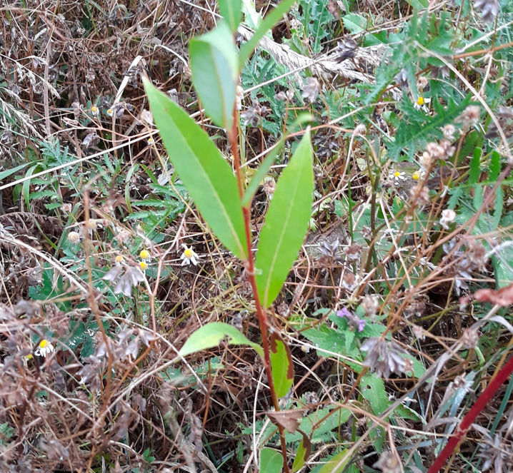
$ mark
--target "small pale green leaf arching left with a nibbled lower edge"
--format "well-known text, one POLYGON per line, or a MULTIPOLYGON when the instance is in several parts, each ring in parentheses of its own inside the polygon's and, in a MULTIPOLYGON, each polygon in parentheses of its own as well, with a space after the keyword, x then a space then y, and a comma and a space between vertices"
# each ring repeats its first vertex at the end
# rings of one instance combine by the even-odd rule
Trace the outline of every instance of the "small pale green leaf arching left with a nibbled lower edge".
POLYGON ((248 345, 253 348, 261 357, 264 357, 264 350, 258 343, 250 342, 233 325, 224 322, 211 322, 200 327, 184 343, 179 351, 181 356, 200 352, 219 346, 221 340, 228 340, 229 345, 248 345))

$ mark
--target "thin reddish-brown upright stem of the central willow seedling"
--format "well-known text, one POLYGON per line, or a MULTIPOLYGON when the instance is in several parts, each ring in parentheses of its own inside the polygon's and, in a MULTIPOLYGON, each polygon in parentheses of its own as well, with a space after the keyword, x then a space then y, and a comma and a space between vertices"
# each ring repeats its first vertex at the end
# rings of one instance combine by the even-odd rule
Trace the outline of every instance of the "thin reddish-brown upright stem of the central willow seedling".
MULTIPOLYGON (((239 196, 242 200, 244 197, 244 188, 242 183, 242 171, 241 171, 241 161, 239 156, 239 147, 237 140, 237 120, 236 120, 236 110, 234 109, 233 114, 233 126, 231 127, 231 131, 228 133, 228 139, 230 141, 231 146, 231 154, 234 158, 234 166, 235 172, 237 176, 237 183, 239 185, 239 196)), ((257 308, 257 317, 259 321, 260 332, 262 334, 262 347, 264 349, 264 369, 267 374, 267 382, 269 383, 269 390, 271 391, 272 404, 274 406, 275 411, 279 411, 279 402, 276 390, 274 389, 274 381, 272 378, 272 369, 271 369, 271 353, 269 352, 269 340, 267 339, 267 327, 269 322, 267 320, 267 313, 264 311, 262 304, 260 302, 260 297, 257 288, 257 280, 255 278, 255 267, 254 267, 254 258, 253 253, 251 251, 252 248, 252 239, 251 239, 251 203, 242 207, 242 213, 244 215, 244 230, 246 233, 246 246, 247 246, 247 260, 246 260, 246 273, 249 277, 249 282, 251 283, 251 290, 253 290, 253 297, 255 301, 255 307, 257 308)), ((285 473, 289 473, 289 466, 287 464, 287 444, 285 442, 285 432, 282 425, 278 424, 279 430, 279 438, 282 444, 282 455, 283 455, 283 468, 285 473)))

